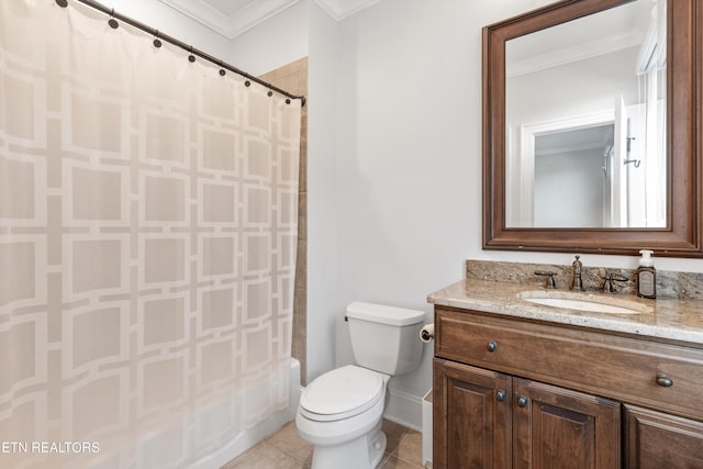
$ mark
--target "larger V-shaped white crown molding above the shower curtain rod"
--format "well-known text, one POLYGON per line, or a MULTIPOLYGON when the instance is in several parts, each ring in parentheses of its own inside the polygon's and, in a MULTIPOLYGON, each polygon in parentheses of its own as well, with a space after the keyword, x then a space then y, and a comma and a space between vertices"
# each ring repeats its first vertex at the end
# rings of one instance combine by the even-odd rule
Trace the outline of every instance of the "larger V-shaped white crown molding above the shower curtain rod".
POLYGON ((215 33, 233 40, 287 8, 292 7, 300 0, 252 1, 231 15, 222 13, 204 0, 159 1, 192 18, 215 33))

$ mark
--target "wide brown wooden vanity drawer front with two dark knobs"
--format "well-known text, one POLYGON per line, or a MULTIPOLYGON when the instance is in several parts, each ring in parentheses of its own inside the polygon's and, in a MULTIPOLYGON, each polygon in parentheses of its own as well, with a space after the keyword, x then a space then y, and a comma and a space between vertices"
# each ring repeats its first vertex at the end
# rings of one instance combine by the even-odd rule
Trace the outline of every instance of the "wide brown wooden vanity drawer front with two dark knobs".
POLYGON ((466 310, 435 315, 438 357, 703 420, 703 350, 466 310))

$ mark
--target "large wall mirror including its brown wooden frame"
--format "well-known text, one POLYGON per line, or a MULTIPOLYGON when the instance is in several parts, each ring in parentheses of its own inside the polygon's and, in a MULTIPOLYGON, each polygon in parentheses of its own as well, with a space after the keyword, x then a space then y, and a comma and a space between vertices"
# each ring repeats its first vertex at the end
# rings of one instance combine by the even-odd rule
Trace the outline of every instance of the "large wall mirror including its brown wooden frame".
POLYGON ((483 29, 483 247, 703 256, 703 0, 566 0, 483 29))

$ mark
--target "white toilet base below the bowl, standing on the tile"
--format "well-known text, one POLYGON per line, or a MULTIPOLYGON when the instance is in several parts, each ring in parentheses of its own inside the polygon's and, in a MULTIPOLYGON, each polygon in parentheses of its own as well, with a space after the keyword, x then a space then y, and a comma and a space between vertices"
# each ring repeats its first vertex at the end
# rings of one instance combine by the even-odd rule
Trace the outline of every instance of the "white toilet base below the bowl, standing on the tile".
POLYGON ((379 422, 369 433, 335 446, 315 446, 312 469, 376 469, 386 451, 386 434, 379 422))

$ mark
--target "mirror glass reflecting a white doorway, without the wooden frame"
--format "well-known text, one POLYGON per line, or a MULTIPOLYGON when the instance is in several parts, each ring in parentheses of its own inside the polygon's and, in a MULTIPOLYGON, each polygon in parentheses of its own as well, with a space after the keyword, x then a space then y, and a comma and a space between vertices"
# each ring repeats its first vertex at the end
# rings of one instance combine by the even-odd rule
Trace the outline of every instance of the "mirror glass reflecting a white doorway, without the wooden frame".
POLYGON ((506 42, 505 225, 665 227, 666 0, 506 42))

